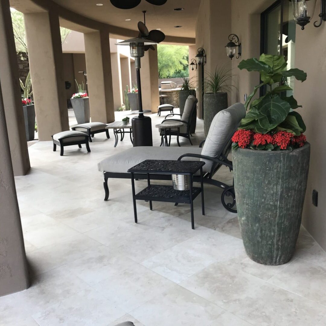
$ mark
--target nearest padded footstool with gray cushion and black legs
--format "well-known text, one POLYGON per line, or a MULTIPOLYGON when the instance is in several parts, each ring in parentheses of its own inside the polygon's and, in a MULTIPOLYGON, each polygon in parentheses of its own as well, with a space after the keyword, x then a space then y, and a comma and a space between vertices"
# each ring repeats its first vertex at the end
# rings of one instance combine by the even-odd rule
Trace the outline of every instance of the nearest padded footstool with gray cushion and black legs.
POLYGON ((60 146, 60 156, 63 156, 64 146, 78 145, 82 148, 82 144, 86 144, 87 152, 90 152, 88 144, 89 136, 82 131, 62 131, 52 136, 53 139, 53 152, 56 151, 57 145, 60 146))

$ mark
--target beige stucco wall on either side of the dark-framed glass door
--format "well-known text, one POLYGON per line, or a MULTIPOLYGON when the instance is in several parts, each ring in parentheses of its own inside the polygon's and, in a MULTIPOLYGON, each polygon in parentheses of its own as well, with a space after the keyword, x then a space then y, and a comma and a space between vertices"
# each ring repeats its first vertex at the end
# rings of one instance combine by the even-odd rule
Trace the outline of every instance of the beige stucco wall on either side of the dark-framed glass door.
MULTIPOLYGON (((260 47, 260 13, 269 7, 274 0, 232 0, 232 33, 239 36, 242 42, 241 59, 259 56, 260 47)), ((319 20, 318 6, 312 22, 319 20)), ((296 82, 294 97, 303 109, 298 111, 302 114, 307 126, 305 132, 307 140, 311 143, 311 159, 308 177, 306 199, 304 203, 303 224, 316 241, 326 249, 326 200, 325 200, 325 172, 326 149, 323 145, 326 131, 324 91, 326 89, 326 24, 315 28, 313 23, 308 24, 304 31, 297 26, 295 67, 307 72, 307 80, 303 83, 296 82), (319 204, 315 207, 311 203, 312 190, 319 192, 319 204)), ((259 83, 259 75, 240 71, 237 68, 239 60, 232 60, 232 67, 236 74, 238 90, 232 92, 232 103, 244 102, 244 94, 252 92, 259 83)))

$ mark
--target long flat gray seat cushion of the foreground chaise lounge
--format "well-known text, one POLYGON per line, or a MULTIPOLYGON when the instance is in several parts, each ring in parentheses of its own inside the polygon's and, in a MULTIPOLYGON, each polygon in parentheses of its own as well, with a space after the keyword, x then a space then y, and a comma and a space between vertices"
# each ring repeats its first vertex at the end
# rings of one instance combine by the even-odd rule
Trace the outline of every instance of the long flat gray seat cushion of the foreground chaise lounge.
MULTIPOLYGON (((144 160, 177 160, 186 153, 200 154, 201 148, 198 147, 132 147, 121 153, 112 155, 99 162, 99 171, 111 173, 127 173, 127 170, 141 163, 144 160)), ((196 161, 197 158, 187 158, 196 161)), ((205 165, 203 167, 205 171, 205 165)))

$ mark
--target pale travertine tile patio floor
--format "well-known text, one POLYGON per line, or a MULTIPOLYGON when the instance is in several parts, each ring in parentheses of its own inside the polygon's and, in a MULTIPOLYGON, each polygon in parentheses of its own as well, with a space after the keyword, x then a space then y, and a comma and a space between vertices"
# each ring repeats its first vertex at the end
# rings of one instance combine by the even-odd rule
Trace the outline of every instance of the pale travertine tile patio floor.
MULTIPOLYGON (((16 187, 32 285, 0 298, 1 325, 326 325, 326 254, 303 228, 288 264, 254 263, 211 186, 205 216, 195 202, 196 230, 188 205, 168 203, 150 212, 139 202, 135 224, 129 180, 110 180, 103 201, 97 162, 131 146, 126 137, 113 148, 112 138, 97 135, 91 153, 70 147, 63 157, 48 141, 29 147, 32 169, 16 187)), ((218 178, 232 175, 222 169, 218 178)))

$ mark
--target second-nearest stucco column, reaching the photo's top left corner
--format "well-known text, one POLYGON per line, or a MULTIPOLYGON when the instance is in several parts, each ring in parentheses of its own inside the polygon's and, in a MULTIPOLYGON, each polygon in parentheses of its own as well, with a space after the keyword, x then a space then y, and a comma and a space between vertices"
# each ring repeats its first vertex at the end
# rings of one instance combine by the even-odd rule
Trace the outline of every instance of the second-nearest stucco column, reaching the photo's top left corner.
POLYGON ((0 1, 0 82, 3 87, 7 130, 15 175, 30 169, 19 85, 16 47, 8 0, 0 1))

